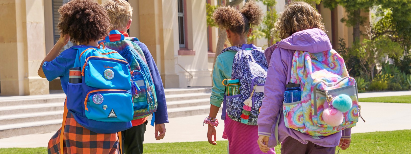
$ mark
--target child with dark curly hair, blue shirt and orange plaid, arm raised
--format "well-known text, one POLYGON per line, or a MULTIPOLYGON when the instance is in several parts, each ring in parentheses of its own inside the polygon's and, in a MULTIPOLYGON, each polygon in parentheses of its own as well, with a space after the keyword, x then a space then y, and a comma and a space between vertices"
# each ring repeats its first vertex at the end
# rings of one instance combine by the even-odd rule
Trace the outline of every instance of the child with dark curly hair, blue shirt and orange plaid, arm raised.
MULTIPOLYGON (((37 73, 49 81, 60 77, 67 95, 69 69, 74 66, 76 48, 97 48, 97 41, 109 34, 111 25, 106 10, 93 0, 71 0, 58 11, 61 15, 58 24, 60 39, 44 58, 37 73), (60 53, 69 40, 80 45, 60 53)), ((90 131, 76 122, 72 113, 67 114, 63 126, 64 132, 60 128, 48 142, 48 154, 119 154, 117 133, 90 131), (61 133, 63 138, 60 138, 61 133)))

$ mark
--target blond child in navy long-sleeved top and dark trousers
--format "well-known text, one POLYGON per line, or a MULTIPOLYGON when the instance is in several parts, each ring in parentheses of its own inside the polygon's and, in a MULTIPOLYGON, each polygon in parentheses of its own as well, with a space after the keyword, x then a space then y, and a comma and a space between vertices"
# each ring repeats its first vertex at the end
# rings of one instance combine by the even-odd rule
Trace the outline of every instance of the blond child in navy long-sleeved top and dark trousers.
MULTIPOLYGON (((133 8, 131 5, 125 0, 108 0, 103 4, 103 7, 107 10, 109 14, 109 18, 111 20, 111 25, 113 25, 112 30, 118 30, 122 33, 125 37, 128 37, 129 34, 127 30, 130 28, 132 23, 132 14, 133 8)), ((109 38, 115 38, 118 34, 110 34, 109 38)), ((152 81, 155 86, 155 93, 157 95, 157 111, 155 112, 155 135, 154 137, 156 140, 161 140, 164 138, 166 133, 166 126, 165 123, 168 123, 168 114, 167 114, 167 104, 166 104, 166 95, 164 94, 163 82, 160 76, 160 73, 157 69, 157 66, 154 62, 154 59, 148 51, 147 46, 138 40, 133 41, 137 44, 141 51, 143 52, 143 56, 147 61, 148 69, 150 70, 150 74, 152 76, 152 81)), ((136 51, 138 49, 135 49, 136 51)), ((126 55, 135 55, 138 54, 131 54, 134 51, 127 50, 127 51, 118 51, 120 55, 125 57, 126 55)), ((141 57, 142 58, 142 57, 141 57)), ((132 62, 129 62, 132 64, 132 62)), ((139 65, 136 63, 136 65, 139 65)), ((134 66, 131 66, 132 68, 134 66)), ((122 131, 122 140, 123 140, 123 153, 127 154, 142 154, 143 153, 143 142, 144 142, 144 133, 146 130, 146 125, 148 124, 148 116, 143 117, 140 119, 132 120, 133 127, 122 131)))

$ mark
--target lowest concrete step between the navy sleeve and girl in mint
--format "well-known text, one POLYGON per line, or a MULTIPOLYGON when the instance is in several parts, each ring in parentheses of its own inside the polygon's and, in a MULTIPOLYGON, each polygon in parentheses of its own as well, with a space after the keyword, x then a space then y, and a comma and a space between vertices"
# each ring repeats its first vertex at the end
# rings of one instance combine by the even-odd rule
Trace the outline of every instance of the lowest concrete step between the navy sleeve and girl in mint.
MULTIPOLYGON (((221 112, 221 110, 222 108, 220 108, 219 112, 221 112)), ((169 118, 185 117, 185 116, 191 116, 191 115, 203 115, 203 114, 210 113, 210 105, 170 108, 168 109, 168 112, 169 112, 169 118)))

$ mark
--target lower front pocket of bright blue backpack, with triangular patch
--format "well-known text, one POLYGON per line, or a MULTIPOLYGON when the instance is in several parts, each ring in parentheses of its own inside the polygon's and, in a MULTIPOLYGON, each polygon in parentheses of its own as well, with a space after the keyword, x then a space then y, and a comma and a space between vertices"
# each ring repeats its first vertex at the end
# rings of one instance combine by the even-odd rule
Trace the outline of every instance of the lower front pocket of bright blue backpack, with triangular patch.
POLYGON ((129 122, 133 119, 132 94, 126 90, 92 90, 85 101, 85 116, 101 122, 129 122))

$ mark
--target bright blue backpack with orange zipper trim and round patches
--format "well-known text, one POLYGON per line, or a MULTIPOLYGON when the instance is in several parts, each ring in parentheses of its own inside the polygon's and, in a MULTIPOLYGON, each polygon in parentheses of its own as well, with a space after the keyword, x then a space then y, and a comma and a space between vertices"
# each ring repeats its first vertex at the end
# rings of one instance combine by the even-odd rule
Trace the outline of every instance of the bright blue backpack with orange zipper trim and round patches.
MULTIPOLYGON (((79 47, 79 48, 77 48, 79 47)), ((133 101, 129 63, 117 51, 77 49, 74 67, 81 67, 82 83, 68 83, 68 112, 76 122, 96 133, 116 133, 132 127, 133 101)))

